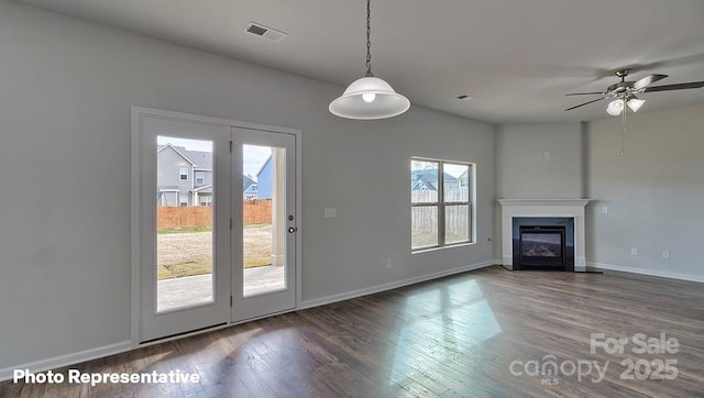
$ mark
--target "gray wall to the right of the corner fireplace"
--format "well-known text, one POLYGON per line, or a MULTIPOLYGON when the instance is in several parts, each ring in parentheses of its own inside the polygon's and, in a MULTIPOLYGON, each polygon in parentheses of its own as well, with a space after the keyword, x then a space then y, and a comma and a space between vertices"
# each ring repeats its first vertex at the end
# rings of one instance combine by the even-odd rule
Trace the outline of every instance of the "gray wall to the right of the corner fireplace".
POLYGON ((704 106, 629 115, 625 155, 619 118, 588 123, 586 196, 597 200, 587 207, 590 262, 704 281, 702 114, 704 106))

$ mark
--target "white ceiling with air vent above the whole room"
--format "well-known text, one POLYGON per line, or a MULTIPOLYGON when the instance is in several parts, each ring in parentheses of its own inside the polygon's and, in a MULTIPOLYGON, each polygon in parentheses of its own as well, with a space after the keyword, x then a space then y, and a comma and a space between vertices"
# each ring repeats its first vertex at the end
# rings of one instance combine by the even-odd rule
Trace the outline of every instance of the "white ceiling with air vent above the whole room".
MULTIPOLYGON (((364 0, 19 0, 343 87, 362 77, 364 0), (255 21, 289 36, 243 33, 255 21)), ((494 123, 608 117, 564 112, 616 82, 704 80, 702 0, 373 0, 372 70, 419 104, 494 123), (470 95, 471 101, 455 97, 470 95)), ((652 111, 704 103, 704 88, 640 96, 652 111)), ((332 100, 333 98, 330 98, 332 100)))

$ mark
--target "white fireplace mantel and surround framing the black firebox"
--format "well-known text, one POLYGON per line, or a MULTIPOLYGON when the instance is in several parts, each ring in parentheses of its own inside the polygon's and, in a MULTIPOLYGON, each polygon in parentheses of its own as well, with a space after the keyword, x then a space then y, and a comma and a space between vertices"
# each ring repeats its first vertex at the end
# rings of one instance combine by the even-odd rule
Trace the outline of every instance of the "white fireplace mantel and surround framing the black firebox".
MULTIPOLYGON (((565 224, 565 245, 563 250, 564 253, 561 254, 564 257, 565 262, 569 262, 569 257, 571 256, 573 264, 571 266, 562 265, 562 267, 565 270, 585 272, 586 257, 584 244, 584 209, 590 200, 591 199, 498 199, 498 202, 502 207, 502 265, 508 269, 526 269, 518 261, 515 261, 514 257, 514 252, 520 251, 519 247, 514 248, 514 219, 532 219, 534 222, 538 222, 538 224, 534 223, 532 225, 530 225, 529 223, 524 225, 534 226, 532 231, 525 229, 525 232, 528 234, 532 234, 529 235, 530 237, 532 237, 532 240, 529 241, 532 241, 534 243, 546 243, 547 245, 543 244, 542 246, 548 247, 556 242, 554 235, 559 234, 559 232, 550 230, 547 234, 542 234, 543 236, 540 236, 540 228, 547 226, 541 225, 540 220, 559 218, 571 220, 573 230, 573 245, 570 247, 569 245, 566 245, 568 225, 565 224), (539 228, 535 229, 535 226, 539 228)), ((554 220, 550 220, 550 222, 554 220)), ((518 233, 520 233, 520 229, 518 233)), ((546 247, 541 247, 540 250, 544 252, 549 248, 546 247)), ((528 255, 527 257, 531 256, 528 255)), ((543 265, 544 267, 550 266, 550 258, 548 258, 548 261, 546 262, 546 257, 550 257, 550 255, 538 255, 537 257, 541 258, 530 259, 536 259, 539 264, 548 263, 548 265, 543 265)), ((559 267, 554 264, 552 265, 556 268, 559 267)))

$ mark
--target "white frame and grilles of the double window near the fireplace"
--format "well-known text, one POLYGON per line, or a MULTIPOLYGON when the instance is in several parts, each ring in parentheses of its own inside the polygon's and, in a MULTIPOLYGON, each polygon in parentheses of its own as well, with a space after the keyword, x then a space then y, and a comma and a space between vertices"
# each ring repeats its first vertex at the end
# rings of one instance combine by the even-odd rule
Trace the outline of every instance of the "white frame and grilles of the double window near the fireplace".
MULTIPOLYGON (((474 198, 475 198, 475 180, 476 180, 476 165, 470 162, 458 162, 458 161, 448 161, 448 159, 436 159, 436 158, 428 158, 428 157, 418 157, 418 156, 413 156, 410 158, 410 163, 413 163, 414 161, 417 162, 432 162, 432 163, 437 163, 438 164, 438 185, 436 187, 436 189, 438 190, 438 199, 435 202, 413 202, 413 198, 411 198, 411 202, 410 202, 410 207, 413 208, 421 208, 421 207, 428 207, 428 208, 437 208, 438 209, 438 243, 435 245, 428 245, 428 246, 418 246, 418 247, 413 247, 413 241, 411 241, 411 253, 419 253, 419 252, 425 252, 428 250, 436 250, 436 248, 443 248, 443 247, 453 247, 453 246, 459 246, 459 245, 466 245, 466 244, 472 244, 475 243, 474 236, 476 235, 475 233, 475 207, 474 207, 474 198), (468 195, 468 201, 446 201, 444 200, 444 165, 446 164, 451 164, 451 165, 463 165, 463 166, 468 166, 469 167, 469 172, 468 172, 468 190, 469 190, 469 195, 468 195), (446 242, 446 208, 447 207, 454 207, 454 206, 466 206, 468 207, 468 212, 469 212, 469 220, 468 220, 468 233, 469 233, 469 240, 466 241, 458 241, 458 242, 450 242, 447 243, 446 242)), ((411 172, 413 173, 413 172, 411 172)), ((458 183, 459 184, 459 183, 458 183)), ((413 195, 413 194, 411 194, 413 195)))

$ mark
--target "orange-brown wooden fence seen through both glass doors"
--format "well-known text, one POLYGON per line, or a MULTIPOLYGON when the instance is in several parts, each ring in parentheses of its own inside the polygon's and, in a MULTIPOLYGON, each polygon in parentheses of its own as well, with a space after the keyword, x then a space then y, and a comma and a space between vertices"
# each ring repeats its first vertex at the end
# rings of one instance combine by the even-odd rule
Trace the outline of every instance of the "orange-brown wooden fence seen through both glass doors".
MULTIPOLYGON (((271 224, 272 200, 245 200, 243 206, 244 224, 271 224)), ((212 207, 210 206, 160 206, 157 207, 156 228, 174 230, 188 228, 212 228, 212 207)))

